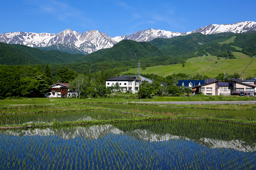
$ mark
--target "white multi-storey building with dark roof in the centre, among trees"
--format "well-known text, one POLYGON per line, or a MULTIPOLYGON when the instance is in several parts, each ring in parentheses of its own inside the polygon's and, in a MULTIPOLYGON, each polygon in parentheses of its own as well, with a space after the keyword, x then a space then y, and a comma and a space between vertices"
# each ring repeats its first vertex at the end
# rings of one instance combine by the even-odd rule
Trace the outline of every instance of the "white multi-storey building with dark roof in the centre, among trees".
POLYGON ((140 87, 140 80, 137 80, 136 77, 110 77, 106 79, 106 87, 116 87, 117 84, 121 91, 126 92, 127 90, 132 91, 132 93, 137 93, 140 87))

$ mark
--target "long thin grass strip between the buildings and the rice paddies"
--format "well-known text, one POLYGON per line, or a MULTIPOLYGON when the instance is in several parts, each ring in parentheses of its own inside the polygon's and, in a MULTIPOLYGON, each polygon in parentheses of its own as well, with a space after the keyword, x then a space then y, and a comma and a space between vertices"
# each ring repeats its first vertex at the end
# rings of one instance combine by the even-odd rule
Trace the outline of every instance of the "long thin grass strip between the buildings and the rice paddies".
MULTIPOLYGON (((124 96, 125 97, 125 96, 124 96)), ((194 95, 194 96, 183 96, 183 97, 156 97, 149 99, 141 99, 143 102, 174 102, 174 101, 254 101, 254 97, 248 96, 206 96, 206 95, 194 95)), ((61 106, 65 103, 129 103, 129 102, 140 102, 139 98, 91 98, 91 99, 76 99, 76 98, 24 98, 24 99, 10 99, 0 100, 0 108, 2 107, 27 107, 28 105, 33 106, 49 106, 53 104, 61 106)))

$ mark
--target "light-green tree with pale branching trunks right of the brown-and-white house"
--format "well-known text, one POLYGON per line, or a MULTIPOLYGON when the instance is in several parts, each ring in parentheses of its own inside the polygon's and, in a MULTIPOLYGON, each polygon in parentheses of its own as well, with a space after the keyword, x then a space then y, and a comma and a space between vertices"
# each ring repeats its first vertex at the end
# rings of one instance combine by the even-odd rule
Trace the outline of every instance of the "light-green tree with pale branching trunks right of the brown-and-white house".
POLYGON ((72 94, 76 98, 80 98, 82 90, 85 90, 87 84, 87 77, 83 74, 79 74, 71 83, 69 89, 72 90, 72 94))

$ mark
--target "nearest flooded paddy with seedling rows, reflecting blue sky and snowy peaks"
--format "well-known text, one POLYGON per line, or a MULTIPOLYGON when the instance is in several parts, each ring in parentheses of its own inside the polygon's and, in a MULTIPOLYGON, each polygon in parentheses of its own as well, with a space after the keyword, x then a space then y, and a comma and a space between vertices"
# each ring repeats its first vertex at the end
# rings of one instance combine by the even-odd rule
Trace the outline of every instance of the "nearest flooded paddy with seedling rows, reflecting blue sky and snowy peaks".
POLYGON ((1 169, 255 169, 256 127, 161 120, 0 131, 1 169), (248 135, 249 134, 249 135, 248 135))

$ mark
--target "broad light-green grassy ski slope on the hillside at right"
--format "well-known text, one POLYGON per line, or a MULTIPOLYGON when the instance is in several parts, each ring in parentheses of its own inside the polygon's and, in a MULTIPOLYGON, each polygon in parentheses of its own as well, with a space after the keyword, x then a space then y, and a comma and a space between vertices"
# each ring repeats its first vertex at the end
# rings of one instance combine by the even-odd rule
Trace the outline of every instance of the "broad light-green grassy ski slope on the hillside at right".
MULTIPOLYGON (((194 75, 199 74, 205 74, 209 76, 210 78, 214 78, 220 73, 228 73, 228 74, 234 74, 241 73, 242 77, 248 77, 248 76, 255 76, 256 74, 256 62, 252 61, 252 64, 245 69, 245 66, 252 60, 251 58, 246 58, 246 56, 242 56, 241 53, 235 53, 235 55, 241 55, 241 58, 245 59, 227 59, 224 60, 224 58, 220 58, 221 60, 217 60, 216 56, 206 56, 206 57, 194 57, 187 60, 185 63, 185 66, 182 67, 182 64, 175 64, 175 65, 159 65, 159 66, 153 66, 153 67, 147 67, 145 70, 141 70, 141 74, 157 74, 159 76, 168 76, 172 74, 178 74, 178 73, 185 73, 194 75), (203 60, 202 60, 203 58, 203 60), (222 63, 222 59, 224 60, 222 63), (192 61, 192 62, 191 62, 192 61), (202 61, 202 62, 201 62, 202 61), (217 64, 215 67, 215 61, 218 63, 221 62, 221 64, 217 64), (213 67, 211 67, 213 65, 213 67), (208 66, 209 71, 208 71, 208 66), (204 70, 204 73, 203 73, 204 70)), ((128 71, 129 73, 136 73, 137 68, 130 69, 128 71)))

